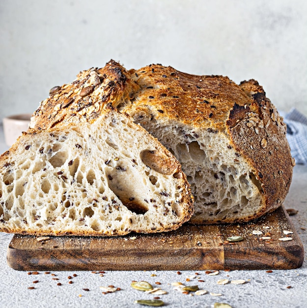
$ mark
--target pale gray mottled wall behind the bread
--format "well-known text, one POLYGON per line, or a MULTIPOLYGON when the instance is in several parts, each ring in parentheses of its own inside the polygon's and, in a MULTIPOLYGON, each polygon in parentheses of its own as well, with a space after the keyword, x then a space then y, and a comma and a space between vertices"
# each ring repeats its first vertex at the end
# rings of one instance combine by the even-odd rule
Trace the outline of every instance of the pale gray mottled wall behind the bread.
POLYGON ((307 1, 0 0, 0 122, 110 59, 254 78, 307 115, 307 1))

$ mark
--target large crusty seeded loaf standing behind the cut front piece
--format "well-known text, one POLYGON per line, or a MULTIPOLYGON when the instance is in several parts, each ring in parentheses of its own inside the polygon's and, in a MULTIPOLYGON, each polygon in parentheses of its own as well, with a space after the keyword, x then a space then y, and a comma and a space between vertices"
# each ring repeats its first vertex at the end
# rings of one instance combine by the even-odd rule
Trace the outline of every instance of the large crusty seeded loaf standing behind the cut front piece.
POLYGON ((256 81, 236 85, 160 64, 127 71, 110 61, 52 89, 31 127, 92 121, 100 102, 129 114, 181 162, 195 197, 192 223, 248 221, 282 204, 294 159, 286 126, 256 81))

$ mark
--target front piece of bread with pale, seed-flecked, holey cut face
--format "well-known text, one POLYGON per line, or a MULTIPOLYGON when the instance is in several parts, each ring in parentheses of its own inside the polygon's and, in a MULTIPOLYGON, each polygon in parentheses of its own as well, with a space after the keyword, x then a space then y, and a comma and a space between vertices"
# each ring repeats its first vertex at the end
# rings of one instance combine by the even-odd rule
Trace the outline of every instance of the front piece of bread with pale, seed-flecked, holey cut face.
POLYGON ((0 231, 124 235, 178 228, 193 196, 175 157, 127 115, 29 129, 0 156, 0 231))

